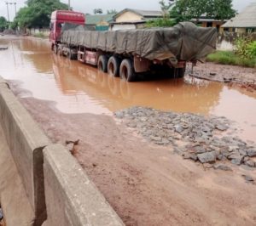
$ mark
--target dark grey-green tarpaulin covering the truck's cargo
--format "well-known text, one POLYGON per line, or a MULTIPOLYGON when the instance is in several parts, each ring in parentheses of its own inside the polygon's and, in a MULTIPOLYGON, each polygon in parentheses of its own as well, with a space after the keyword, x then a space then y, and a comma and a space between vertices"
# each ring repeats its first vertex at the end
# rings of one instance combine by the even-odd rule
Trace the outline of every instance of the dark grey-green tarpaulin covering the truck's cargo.
POLYGON ((190 22, 172 28, 120 31, 62 31, 61 42, 115 54, 133 54, 144 59, 195 61, 216 48, 215 28, 201 28, 190 22))

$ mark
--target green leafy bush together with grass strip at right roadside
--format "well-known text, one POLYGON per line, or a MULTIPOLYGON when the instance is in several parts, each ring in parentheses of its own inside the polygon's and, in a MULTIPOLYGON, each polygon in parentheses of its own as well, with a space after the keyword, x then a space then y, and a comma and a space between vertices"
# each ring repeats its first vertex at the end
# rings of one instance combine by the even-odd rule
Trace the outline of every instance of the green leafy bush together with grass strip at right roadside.
POLYGON ((234 51, 216 51, 207 56, 207 61, 256 68, 256 41, 250 37, 240 37, 235 42, 234 51))

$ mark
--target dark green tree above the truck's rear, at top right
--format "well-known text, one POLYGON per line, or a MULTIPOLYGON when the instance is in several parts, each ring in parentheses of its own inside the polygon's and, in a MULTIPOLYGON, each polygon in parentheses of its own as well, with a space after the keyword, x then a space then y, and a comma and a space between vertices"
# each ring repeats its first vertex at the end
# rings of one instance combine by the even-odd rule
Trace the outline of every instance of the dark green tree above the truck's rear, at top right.
POLYGON ((199 20, 201 15, 216 20, 230 19, 236 11, 232 8, 232 0, 177 0, 170 14, 180 22, 192 18, 199 20))

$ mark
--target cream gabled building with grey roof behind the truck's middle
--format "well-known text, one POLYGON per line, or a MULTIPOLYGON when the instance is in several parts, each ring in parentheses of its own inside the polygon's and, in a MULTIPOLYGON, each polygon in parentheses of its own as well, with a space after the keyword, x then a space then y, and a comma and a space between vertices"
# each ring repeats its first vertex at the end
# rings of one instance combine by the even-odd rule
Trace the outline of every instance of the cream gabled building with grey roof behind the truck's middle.
POLYGON ((149 11, 133 8, 125 8, 113 16, 110 23, 111 30, 142 28, 148 20, 163 17, 161 11, 149 11))

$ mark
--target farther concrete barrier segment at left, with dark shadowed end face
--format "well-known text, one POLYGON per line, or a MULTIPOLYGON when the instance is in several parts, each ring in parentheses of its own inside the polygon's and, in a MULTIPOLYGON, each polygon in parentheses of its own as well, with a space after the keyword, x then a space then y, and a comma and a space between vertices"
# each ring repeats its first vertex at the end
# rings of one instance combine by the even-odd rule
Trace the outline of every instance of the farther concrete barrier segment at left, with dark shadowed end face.
POLYGON ((0 122, 26 195, 35 212, 35 225, 46 219, 43 149, 50 144, 32 117, 1 80, 0 122))

